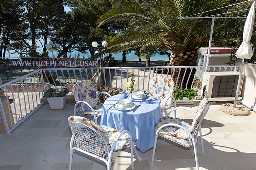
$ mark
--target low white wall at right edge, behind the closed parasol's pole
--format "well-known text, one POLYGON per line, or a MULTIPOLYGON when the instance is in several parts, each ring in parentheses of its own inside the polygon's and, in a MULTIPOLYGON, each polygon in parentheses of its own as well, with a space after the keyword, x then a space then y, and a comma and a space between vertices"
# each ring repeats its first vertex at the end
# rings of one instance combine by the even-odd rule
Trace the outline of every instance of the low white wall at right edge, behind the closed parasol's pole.
MULTIPOLYGON (((236 62, 236 65, 241 65, 241 62, 236 62)), ((256 64, 245 62, 243 74, 242 104, 256 111, 256 64)))

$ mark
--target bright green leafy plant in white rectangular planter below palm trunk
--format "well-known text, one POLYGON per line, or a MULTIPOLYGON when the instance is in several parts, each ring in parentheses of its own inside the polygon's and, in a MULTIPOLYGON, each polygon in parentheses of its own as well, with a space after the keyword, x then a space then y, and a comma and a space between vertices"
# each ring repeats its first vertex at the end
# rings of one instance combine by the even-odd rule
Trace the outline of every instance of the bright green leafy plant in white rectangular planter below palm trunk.
POLYGON ((194 97, 197 96, 198 90, 194 89, 184 89, 182 92, 181 89, 174 90, 174 98, 176 104, 178 105, 189 105, 194 104, 194 97))

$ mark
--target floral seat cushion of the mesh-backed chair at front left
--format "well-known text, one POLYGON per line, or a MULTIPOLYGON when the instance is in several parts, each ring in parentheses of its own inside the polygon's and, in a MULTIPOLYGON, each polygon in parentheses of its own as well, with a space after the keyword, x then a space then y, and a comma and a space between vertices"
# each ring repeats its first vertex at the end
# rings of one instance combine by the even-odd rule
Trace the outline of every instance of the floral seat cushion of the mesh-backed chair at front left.
MULTIPOLYGON (((112 127, 108 127, 105 125, 101 125, 101 127, 107 132, 109 136, 109 144, 111 147, 113 147, 114 141, 117 139, 117 136, 122 132, 122 130, 114 129, 112 127)), ((124 133, 120 136, 120 138, 117 141, 117 144, 114 148, 112 160, 115 160, 119 152, 122 150, 124 145, 128 142, 129 140, 129 135, 128 133, 124 133)))

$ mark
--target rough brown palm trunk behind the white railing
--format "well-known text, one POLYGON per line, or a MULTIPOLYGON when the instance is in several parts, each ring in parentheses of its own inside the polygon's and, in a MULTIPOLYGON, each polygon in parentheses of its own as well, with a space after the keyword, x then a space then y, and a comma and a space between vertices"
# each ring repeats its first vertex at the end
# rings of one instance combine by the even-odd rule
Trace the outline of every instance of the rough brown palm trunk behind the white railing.
MULTIPOLYGON (((197 65, 197 51, 191 51, 191 52, 185 52, 184 54, 179 53, 179 54, 174 54, 172 53, 171 57, 170 57, 170 66, 193 66, 193 65, 197 65)), ((184 76, 185 73, 185 69, 171 69, 171 75, 173 74, 174 71, 174 76, 173 76, 173 81, 176 84, 177 78, 178 78, 178 82, 177 82, 177 89, 181 88, 181 81, 182 78, 184 76), (179 75, 180 72, 180 75, 179 75), (179 77, 178 77, 179 75, 179 77)), ((186 83, 188 80, 188 84, 187 84, 187 89, 191 88, 192 85, 192 81, 194 79, 194 75, 196 73, 196 69, 193 69, 191 72, 191 75, 189 77, 191 69, 187 69, 185 76, 184 76, 184 80, 182 83, 182 90, 186 88, 186 83)))

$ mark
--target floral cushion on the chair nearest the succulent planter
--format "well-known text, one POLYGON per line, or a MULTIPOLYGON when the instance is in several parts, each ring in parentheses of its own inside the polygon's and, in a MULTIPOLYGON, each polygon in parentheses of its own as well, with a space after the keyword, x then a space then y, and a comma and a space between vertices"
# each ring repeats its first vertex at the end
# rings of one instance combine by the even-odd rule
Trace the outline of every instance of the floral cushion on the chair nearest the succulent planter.
MULTIPOLYGON (((75 102, 85 101, 93 108, 100 105, 100 101, 96 95, 95 86, 92 80, 84 80, 76 83, 73 86, 73 93, 75 96, 75 102)), ((84 103, 79 104, 79 109, 83 112, 90 110, 90 108, 84 103)))

